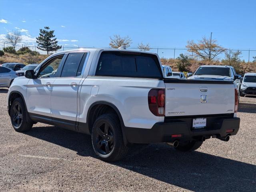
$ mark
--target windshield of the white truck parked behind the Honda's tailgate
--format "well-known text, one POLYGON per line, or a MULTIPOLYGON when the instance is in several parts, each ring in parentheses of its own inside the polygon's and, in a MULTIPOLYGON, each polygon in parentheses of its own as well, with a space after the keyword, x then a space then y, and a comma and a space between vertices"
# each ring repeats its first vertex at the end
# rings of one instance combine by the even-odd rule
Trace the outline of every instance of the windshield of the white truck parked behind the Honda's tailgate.
POLYGON ((230 76, 229 68, 227 67, 200 67, 195 75, 220 75, 230 76))

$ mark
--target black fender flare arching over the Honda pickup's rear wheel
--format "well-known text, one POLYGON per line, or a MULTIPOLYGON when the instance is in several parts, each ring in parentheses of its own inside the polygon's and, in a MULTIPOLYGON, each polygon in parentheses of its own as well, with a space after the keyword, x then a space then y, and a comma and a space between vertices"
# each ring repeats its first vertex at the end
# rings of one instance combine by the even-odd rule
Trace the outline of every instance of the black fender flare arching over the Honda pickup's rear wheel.
POLYGON ((108 105, 108 106, 112 107, 115 110, 115 112, 118 115, 118 118, 120 120, 120 123, 121 123, 121 130, 122 130, 122 136, 123 136, 123 139, 124 139, 124 144, 127 146, 128 145, 128 140, 127 140, 126 135, 124 133, 124 127, 125 127, 124 126, 124 120, 122 118, 122 115, 121 115, 120 111, 118 110, 118 108, 114 104, 112 104, 110 102, 106 102, 106 101, 96 101, 96 102, 94 102, 93 104, 90 105, 90 107, 88 109, 87 116, 86 116, 86 122, 87 123, 89 122, 89 114, 90 114, 91 109, 94 106, 98 105, 98 104, 108 105))

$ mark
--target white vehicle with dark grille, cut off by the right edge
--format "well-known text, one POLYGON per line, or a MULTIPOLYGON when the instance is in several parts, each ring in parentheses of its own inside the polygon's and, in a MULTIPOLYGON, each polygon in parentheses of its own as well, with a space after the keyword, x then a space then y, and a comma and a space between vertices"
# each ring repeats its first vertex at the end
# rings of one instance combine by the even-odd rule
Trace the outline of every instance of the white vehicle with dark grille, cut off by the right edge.
POLYGON ((256 95, 256 73, 244 74, 240 96, 245 95, 256 95))

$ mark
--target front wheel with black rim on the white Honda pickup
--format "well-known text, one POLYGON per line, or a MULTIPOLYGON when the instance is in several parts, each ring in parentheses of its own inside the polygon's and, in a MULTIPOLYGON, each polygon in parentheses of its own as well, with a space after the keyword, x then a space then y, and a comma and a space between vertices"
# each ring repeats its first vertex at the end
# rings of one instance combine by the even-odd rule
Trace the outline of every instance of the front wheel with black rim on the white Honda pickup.
POLYGON ((16 98, 12 102, 10 117, 12 126, 17 132, 28 131, 33 126, 32 122, 27 122, 27 111, 22 98, 16 98))

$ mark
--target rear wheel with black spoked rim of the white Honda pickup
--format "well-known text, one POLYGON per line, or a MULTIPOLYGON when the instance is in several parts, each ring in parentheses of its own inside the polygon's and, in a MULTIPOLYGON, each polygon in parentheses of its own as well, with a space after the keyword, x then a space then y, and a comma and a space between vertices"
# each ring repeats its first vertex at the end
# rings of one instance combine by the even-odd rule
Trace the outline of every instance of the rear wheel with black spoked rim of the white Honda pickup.
POLYGON ((128 152, 124 145, 119 118, 116 114, 99 116, 92 127, 92 146, 96 155, 104 161, 117 161, 128 152))

